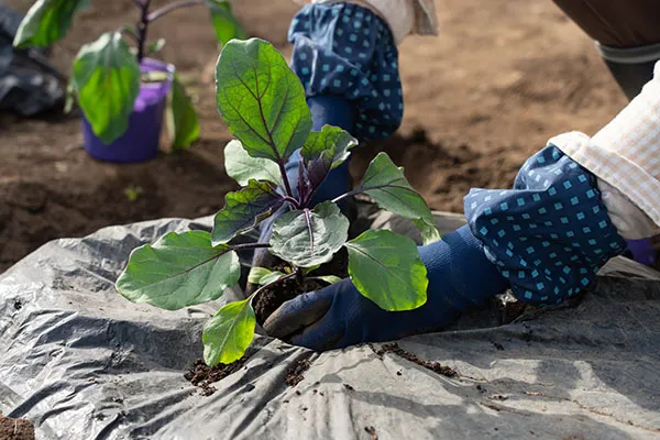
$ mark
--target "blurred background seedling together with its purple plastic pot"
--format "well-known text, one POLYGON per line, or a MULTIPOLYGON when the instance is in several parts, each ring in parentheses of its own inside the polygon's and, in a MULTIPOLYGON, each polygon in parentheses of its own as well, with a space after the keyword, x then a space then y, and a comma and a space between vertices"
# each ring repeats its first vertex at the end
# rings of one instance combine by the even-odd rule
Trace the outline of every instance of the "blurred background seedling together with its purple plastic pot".
MULTIPOLYGON (((151 0, 132 1, 139 12, 136 24, 84 45, 68 87, 67 109, 75 94, 82 110, 85 148, 102 161, 142 162, 155 156, 166 108, 173 150, 188 147, 199 135, 197 114, 174 66, 147 57, 165 44, 164 40, 147 44, 154 21, 182 8, 206 6, 220 44, 246 36, 227 1, 176 0, 155 10, 151 0)), ((14 46, 47 46, 61 40, 76 12, 90 3, 37 0, 21 22, 14 46)))

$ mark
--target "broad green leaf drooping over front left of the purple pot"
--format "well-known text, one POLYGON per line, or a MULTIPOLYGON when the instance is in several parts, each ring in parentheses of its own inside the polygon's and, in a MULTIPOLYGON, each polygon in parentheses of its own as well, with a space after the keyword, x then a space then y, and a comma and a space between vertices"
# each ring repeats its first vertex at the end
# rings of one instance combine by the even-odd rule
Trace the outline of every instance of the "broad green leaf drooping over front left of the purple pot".
POLYGON ((74 62, 72 81, 96 135, 106 144, 121 136, 140 92, 140 66, 121 34, 105 33, 82 46, 74 62))

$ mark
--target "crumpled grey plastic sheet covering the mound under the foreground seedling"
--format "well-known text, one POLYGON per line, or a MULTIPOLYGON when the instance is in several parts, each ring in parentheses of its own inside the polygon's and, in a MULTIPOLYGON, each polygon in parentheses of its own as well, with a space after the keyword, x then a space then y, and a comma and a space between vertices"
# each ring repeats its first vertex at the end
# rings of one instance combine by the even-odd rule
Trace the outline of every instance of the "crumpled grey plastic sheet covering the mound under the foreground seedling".
MULTIPOLYGON (((449 229, 463 222, 437 218, 449 229)), ((240 289, 164 311, 128 301, 113 283, 135 246, 210 227, 205 218, 106 228, 47 243, 1 274, 0 411, 29 418, 48 440, 660 436, 660 274, 625 258, 579 300, 514 319, 491 306, 449 331, 398 341, 455 377, 381 354, 382 344, 318 354, 256 336, 245 365, 205 397, 183 375, 201 356, 205 321, 240 289), (310 367, 288 386, 299 360, 310 367)))

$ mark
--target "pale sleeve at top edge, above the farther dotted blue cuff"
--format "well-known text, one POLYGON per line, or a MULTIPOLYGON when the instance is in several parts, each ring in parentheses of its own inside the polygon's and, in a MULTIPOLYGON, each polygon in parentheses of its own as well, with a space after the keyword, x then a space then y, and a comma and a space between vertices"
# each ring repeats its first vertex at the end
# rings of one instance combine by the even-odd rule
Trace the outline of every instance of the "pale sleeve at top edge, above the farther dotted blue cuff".
POLYGON ((297 3, 355 3, 371 9, 389 25, 398 45, 407 35, 438 32, 435 0, 296 0, 297 3))

